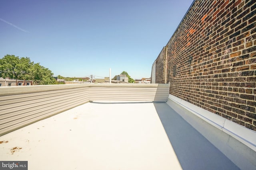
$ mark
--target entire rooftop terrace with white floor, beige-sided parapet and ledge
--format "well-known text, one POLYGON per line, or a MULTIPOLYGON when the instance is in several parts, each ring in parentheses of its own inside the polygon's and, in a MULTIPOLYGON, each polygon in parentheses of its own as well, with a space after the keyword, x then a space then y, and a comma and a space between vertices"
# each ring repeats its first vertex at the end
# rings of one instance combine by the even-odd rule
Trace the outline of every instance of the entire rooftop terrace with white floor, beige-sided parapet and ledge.
POLYGON ((256 168, 254 131, 168 96, 168 87, 0 88, 0 160, 32 170, 256 168))

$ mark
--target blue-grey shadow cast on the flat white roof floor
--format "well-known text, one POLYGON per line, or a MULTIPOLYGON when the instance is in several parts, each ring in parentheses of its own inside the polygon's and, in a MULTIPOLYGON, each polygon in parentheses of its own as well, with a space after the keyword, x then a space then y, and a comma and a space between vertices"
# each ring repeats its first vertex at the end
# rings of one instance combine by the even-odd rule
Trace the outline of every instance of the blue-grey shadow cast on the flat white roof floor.
POLYGON ((239 169, 166 103, 154 106, 184 170, 239 169))

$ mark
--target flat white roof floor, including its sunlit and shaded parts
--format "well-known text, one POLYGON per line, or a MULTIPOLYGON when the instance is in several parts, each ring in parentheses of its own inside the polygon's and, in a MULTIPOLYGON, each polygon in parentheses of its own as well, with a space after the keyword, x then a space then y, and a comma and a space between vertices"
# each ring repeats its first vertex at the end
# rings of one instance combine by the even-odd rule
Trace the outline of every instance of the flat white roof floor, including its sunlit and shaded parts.
POLYGON ((166 103, 90 102, 0 141, 29 170, 238 169, 166 103))

